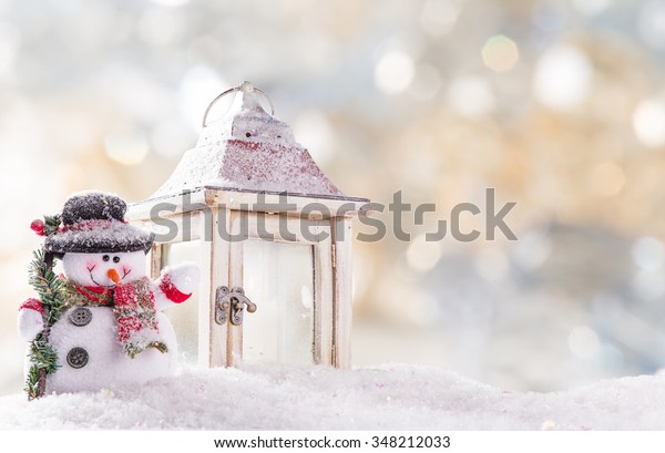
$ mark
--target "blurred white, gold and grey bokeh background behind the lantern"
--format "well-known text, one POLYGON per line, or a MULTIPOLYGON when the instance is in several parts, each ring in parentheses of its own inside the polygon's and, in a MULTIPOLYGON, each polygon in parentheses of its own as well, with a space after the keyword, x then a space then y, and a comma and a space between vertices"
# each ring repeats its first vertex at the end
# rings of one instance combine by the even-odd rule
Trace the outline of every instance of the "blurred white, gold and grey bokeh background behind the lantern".
POLYGON ((85 188, 147 198, 243 80, 347 195, 437 204, 411 241, 356 243, 356 366, 535 391, 657 372, 664 58, 663 0, 0 0, 0 392, 30 222, 85 188), (485 187, 518 241, 424 241, 485 187))

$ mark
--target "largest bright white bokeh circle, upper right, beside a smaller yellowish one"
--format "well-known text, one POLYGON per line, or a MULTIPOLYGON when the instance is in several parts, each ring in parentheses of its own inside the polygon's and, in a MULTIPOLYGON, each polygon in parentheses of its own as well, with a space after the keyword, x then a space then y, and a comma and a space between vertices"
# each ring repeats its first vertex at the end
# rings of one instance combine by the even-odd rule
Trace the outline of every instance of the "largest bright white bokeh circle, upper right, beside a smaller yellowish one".
POLYGON ((550 109, 569 111, 586 97, 592 78, 593 68, 584 52, 573 45, 556 44, 538 60, 534 95, 550 109))

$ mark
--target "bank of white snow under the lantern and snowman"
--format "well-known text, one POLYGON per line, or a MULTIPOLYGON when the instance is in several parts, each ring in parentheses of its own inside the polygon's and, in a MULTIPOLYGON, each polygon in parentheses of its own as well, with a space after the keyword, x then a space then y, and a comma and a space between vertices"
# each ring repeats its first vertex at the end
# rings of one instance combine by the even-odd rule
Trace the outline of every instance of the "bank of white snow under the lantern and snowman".
POLYGON ((0 429, 663 430, 665 377, 523 393, 419 366, 219 368, 32 402, 0 398, 0 429))

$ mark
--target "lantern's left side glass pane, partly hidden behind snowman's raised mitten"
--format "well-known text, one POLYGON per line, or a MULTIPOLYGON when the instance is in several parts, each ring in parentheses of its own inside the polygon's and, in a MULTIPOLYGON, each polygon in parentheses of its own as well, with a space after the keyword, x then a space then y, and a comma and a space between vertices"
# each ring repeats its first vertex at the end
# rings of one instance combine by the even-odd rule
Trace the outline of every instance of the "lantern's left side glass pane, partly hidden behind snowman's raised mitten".
MULTIPOLYGON (((186 261, 201 266, 201 240, 164 245, 162 254, 164 266, 175 266, 186 261)), ((196 364, 198 360, 198 290, 195 290, 185 302, 173 305, 164 312, 175 329, 180 363, 196 364)))

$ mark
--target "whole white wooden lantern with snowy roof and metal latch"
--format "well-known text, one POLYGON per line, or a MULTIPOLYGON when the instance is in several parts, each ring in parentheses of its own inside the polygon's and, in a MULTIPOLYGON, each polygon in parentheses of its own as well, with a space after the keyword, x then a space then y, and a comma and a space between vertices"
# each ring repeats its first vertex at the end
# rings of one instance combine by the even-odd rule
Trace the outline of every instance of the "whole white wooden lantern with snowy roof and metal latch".
POLYGON ((172 309, 191 361, 348 367, 351 220, 368 200, 335 187, 260 96, 247 82, 217 96, 196 146, 127 218, 157 234, 153 277, 201 266, 195 300, 172 309), (226 115, 206 125, 232 93, 226 115))

